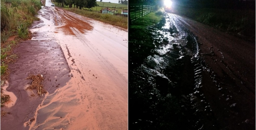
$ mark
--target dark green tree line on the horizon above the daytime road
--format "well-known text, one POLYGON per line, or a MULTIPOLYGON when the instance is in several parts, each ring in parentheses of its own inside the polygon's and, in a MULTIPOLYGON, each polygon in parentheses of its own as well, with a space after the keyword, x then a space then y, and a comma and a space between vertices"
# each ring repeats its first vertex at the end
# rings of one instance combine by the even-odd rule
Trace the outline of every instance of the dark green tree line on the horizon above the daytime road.
POLYGON ((77 9, 83 9, 84 7, 90 9, 97 6, 96 0, 55 0, 55 2, 61 6, 68 6, 69 8, 72 8, 74 4, 74 7, 77 9))

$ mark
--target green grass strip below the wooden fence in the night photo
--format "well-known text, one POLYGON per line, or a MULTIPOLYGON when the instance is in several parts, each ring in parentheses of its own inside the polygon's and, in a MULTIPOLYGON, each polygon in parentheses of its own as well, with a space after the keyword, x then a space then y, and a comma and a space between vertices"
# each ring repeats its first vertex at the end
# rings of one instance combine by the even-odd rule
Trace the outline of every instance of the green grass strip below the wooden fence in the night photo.
POLYGON ((161 26, 165 23, 163 10, 151 12, 129 23, 129 69, 132 70, 136 65, 140 65, 145 56, 151 53, 155 47, 149 27, 161 26), (139 50, 138 50, 139 48, 139 50))

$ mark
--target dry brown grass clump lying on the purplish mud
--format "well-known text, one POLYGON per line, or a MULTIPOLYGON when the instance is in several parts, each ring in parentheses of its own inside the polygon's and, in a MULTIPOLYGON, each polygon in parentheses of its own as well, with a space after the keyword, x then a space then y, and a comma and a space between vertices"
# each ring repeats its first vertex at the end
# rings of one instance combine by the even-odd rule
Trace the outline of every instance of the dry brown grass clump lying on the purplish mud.
POLYGON ((43 86, 44 78, 41 77, 40 74, 30 75, 26 79, 32 79, 33 80, 31 82, 31 85, 29 87, 27 87, 27 90, 37 89, 37 94, 40 95, 40 96, 47 92, 46 90, 44 90, 44 86, 43 86))

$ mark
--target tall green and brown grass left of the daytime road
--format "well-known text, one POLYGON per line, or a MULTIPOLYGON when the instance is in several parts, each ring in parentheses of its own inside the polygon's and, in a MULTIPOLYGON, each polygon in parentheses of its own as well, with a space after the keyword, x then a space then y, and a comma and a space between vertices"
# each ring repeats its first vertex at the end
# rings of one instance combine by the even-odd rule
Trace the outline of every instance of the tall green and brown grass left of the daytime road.
POLYGON ((16 35, 15 31, 20 38, 27 38, 27 28, 33 23, 39 9, 39 0, 1 0, 1 42, 16 35))

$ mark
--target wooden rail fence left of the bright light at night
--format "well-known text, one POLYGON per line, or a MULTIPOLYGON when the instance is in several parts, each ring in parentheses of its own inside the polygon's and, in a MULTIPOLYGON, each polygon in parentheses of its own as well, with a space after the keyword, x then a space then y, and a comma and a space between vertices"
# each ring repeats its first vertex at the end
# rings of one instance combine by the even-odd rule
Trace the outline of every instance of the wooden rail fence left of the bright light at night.
POLYGON ((154 11, 155 6, 129 6, 128 9, 130 20, 133 21, 154 11))

